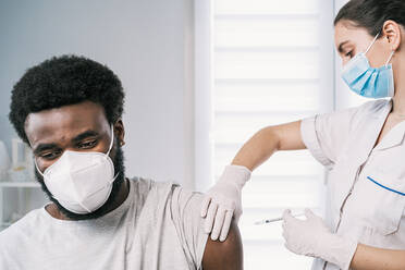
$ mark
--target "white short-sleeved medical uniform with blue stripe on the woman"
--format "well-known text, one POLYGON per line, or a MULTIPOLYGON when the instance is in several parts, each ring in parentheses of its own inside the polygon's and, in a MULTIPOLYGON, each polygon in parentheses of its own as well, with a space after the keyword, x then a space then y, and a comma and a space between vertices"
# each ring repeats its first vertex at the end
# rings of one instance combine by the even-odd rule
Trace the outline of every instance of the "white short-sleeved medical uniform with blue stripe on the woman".
MULTIPOLYGON (((302 137, 329 169, 328 226, 338 235, 389 249, 405 249, 405 121, 376 145, 391 100, 317 115, 302 122, 302 137)), ((314 270, 339 269, 316 259, 314 270)))

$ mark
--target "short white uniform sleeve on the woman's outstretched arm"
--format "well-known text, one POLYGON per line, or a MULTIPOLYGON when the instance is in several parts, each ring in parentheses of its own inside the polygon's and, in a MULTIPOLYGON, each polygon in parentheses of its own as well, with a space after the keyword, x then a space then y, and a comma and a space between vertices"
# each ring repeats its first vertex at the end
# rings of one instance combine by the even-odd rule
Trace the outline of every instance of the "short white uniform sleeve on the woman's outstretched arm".
POLYGON ((342 154, 359 108, 319 114, 304 119, 300 135, 311 155, 324 167, 332 169, 342 154))

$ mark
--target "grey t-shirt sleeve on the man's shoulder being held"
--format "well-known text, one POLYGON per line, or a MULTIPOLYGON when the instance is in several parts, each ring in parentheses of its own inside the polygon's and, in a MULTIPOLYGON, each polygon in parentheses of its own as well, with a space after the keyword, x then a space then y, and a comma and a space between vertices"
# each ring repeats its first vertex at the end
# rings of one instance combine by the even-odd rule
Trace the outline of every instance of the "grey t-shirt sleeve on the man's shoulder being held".
POLYGON ((200 217, 202 195, 182 187, 175 187, 172 196, 172 218, 183 250, 195 269, 202 269, 202 256, 208 234, 204 231, 200 217))

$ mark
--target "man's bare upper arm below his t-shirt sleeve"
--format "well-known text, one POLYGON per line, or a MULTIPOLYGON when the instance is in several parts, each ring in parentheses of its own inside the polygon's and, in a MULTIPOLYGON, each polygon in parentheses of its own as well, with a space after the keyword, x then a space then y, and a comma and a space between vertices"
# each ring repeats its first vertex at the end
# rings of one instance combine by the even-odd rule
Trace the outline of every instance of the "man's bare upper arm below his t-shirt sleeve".
POLYGON ((243 247, 237 225, 232 222, 224 242, 207 240, 202 256, 204 270, 241 270, 243 269, 243 247))

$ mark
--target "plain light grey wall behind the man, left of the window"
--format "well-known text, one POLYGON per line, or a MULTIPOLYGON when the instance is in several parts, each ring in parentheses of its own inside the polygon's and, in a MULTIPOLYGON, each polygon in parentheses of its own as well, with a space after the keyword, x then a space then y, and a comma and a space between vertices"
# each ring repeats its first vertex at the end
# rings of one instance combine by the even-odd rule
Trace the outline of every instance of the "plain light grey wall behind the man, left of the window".
POLYGON ((192 0, 0 1, 0 139, 24 71, 75 53, 107 64, 126 91, 128 175, 194 187, 192 0))

